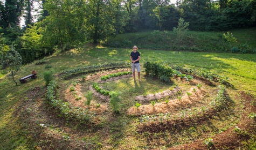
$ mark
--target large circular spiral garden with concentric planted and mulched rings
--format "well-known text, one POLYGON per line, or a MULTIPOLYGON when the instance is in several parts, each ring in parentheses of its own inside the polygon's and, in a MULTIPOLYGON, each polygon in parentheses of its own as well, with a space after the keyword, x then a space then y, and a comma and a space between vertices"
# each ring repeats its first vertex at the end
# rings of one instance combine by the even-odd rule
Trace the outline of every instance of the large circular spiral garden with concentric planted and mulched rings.
MULTIPOLYGON (((256 100, 250 93, 233 92, 225 77, 216 74, 213 76, 210 71, 171 66, 167 62, 147 62, 144 64, 145 72, 141 74, 144 78, 140 83, 132 81, 132 74, 128 73, 130 68, 123 68, 129 67, 127 64, 121 64, 118 68, 105 66, 108 68, 99 66, 93 71, 87 66, 84 70, 77 69, 79 73, 70 71, 65 76, 59 74, 60 78, 74 78, 72 83, 65 86, 56 81, 51 82, 45 97, 48 104, 37 99, 40 107, 47 106, 47 110, 43 109, 46 111, 43 117, 47 118, 47 122, 36 119, 36 114, 32 115, 37 122, 31 124, 45 125, 37 126, 37 130, 44 131, 40 133, 40 140, 50 138, 55 141, 55 146, 58 145, 58 140, 63 141, 71 149, 85 148, 85 145, 87 149, 108 149, 109 145, 116 145, 117 149, 129 149, 129 145, 121 144, 121 141, 141 141, 143 146, 139 149, 234 149, 241 146, 241 142, 250 142, 255 132, 256 100), (152 66, 149 67, 149 64, 152 66), (154 72, 161 68, 168 71, 162 71, 162 74, 154 72), (170 71, 172 72, 168 77, 170 71), (82 80, 81 74, 87 77, 82 80), (171 80, 162 77, 164 75, 171 80), (188 75, 193 77, 187 77, 188 75), (159 77, 157 80, 156 76, 159 77), (127 78, 129 80, 126 83, 127 78), (84 103, 84 93, 89 90, 94 93, 90 107, 84 103), (120 114, 115 114, 109 106, 111 91, 122 92, 120 114), (238 105, 238 102, 241 104, 238 105), (136 103, 141 105, 136 107, 136 103), (248 110, 247 114, 240 112, 241 106, 248 110), (238 112, 240 116, 236 115, 238 112), (68 131, 68 136, 51 133, 51 129, 46 127, 57 118, 57 126, 65 133, 68 131), (101 141, 101 144, 92 144, 91 139, 85 138, 97 136, 101 138, 95 140, 101 141)), ((31 100, 27 101, 30 102, 31 100)))

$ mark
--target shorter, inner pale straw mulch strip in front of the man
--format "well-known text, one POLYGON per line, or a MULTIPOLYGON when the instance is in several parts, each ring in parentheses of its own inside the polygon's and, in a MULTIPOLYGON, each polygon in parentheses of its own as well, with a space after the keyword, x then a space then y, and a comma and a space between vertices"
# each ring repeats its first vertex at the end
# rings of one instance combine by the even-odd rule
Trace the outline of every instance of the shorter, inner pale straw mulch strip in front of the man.
POLYGON ((179 87, 174 88, 172 91, 166 90, 163 92, 155 93, 155 94, 149 94, 149 95, 139 95, 135 97, 136 101, 140 102, 149 102, 151 100, 160 100, 164 97, 174 97, 176 95, 176 92, 180 90, 179 87))

